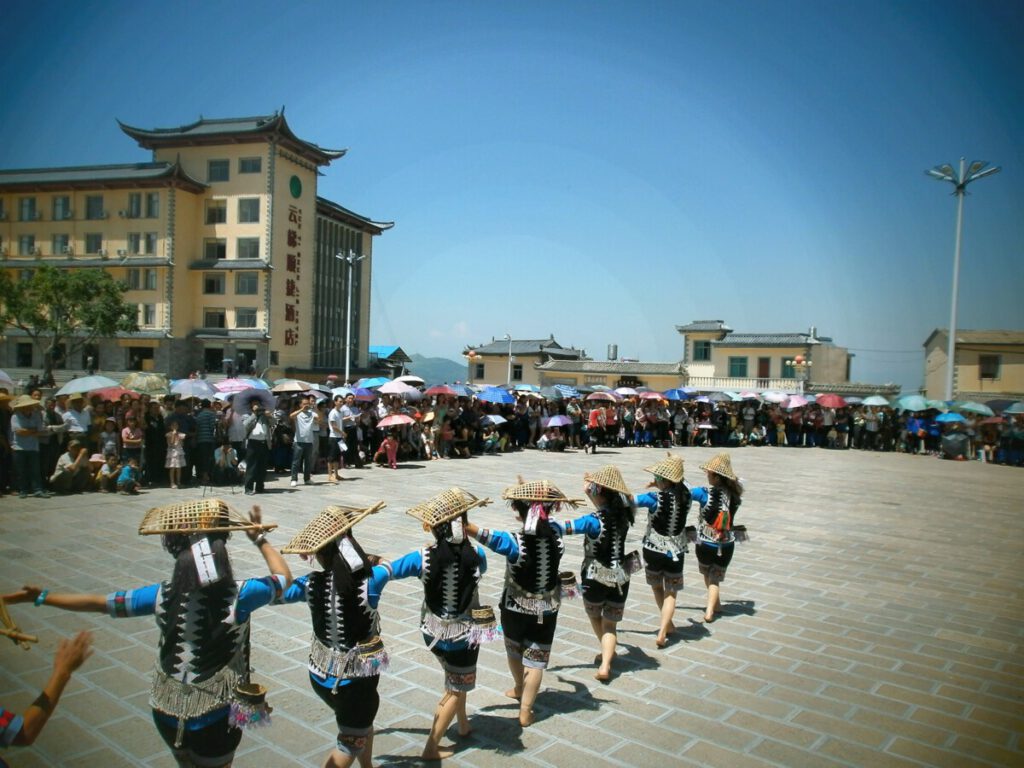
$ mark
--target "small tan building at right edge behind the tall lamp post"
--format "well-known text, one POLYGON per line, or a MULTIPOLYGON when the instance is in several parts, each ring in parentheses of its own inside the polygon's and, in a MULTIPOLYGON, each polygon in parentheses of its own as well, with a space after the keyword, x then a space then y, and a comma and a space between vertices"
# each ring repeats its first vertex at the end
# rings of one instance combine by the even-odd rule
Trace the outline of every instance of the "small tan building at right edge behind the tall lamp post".
MULTIPOLYGON (((925 340, 925 396, 945 397, 949 331, 925 340)), ((953 399, 1024 399, 1024 331, 957 331, 953 399)))

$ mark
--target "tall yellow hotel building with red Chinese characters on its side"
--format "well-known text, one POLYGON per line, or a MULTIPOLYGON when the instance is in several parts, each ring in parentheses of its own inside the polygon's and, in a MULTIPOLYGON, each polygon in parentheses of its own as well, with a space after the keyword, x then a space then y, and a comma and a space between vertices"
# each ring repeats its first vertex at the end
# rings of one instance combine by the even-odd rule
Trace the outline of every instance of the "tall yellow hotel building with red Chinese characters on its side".
MULTIPOLYGON (((245 357, 285 372, 338 368, 350 348, 353 368, 367 364, 373 238, 392 224, 318 197, 321 169, 345 151, 299 138, 283 112, 120 126, 151 162, 0 171, 0 266, 22 279, 101 267, 138 306, 138 333, 83 359, 181 376, 245 357)), ((0 360, 42 365, 16 329, 0 360)))

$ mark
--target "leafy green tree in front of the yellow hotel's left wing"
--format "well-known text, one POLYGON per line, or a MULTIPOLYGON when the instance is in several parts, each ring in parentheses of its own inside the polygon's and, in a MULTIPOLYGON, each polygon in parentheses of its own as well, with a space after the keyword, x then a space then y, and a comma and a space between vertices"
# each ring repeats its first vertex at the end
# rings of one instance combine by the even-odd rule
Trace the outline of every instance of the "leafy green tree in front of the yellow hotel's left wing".
POLYGON ((97 338, 138 331, 137 307, 124 300, 127 286, 104 269, 41 266, 31 280, 0 272, 0 321, 25 331, 43 353, 43 378, 60 345, 70 357, 97 338))

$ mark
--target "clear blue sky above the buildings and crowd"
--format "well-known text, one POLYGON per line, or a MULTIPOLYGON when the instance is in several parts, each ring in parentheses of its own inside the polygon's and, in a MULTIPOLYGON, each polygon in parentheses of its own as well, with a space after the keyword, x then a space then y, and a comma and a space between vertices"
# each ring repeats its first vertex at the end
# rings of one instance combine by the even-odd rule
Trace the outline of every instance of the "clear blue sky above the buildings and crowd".
POLYGON ((1024 4, 8 4, 0 167, 145 160, 145 127, 286 106, 378 220, 372 343, 460 359, 554 334, 682 356, 675 326, 816 326, 915 388, 949 318, 1024 328, 1024 4), (377 7, 374 7, 377 6, 377 7))

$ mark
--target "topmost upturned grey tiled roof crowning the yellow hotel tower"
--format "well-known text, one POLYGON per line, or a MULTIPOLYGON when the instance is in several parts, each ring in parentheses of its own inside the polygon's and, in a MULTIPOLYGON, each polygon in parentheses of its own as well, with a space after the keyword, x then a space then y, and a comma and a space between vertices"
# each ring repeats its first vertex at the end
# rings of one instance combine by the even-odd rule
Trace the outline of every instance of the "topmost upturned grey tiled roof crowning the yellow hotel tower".
POLYGON ((285 146, 316 165, 329 165, 343 157, 348 150, 328 150, 299 138, 285 120, 285 112, 250 118, 207 119, 200 117, 195 123, 177 128, 136 128, 118 121, 125 133, 138 141, 139 146, 156 150, 167 146, 196 146, 201 144, 244 143, 276 138, 285 146))

